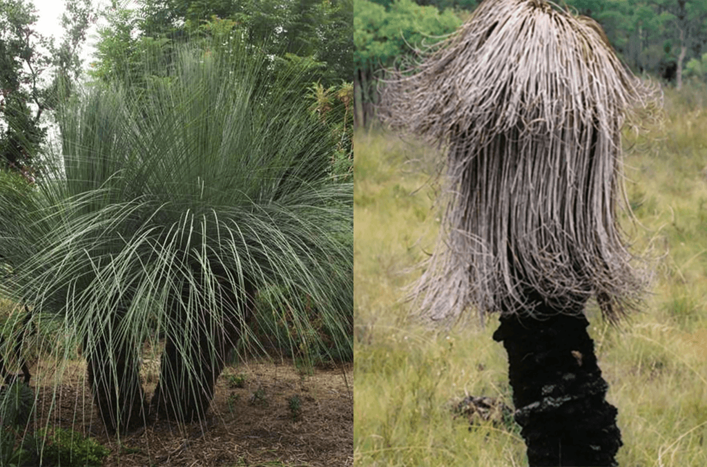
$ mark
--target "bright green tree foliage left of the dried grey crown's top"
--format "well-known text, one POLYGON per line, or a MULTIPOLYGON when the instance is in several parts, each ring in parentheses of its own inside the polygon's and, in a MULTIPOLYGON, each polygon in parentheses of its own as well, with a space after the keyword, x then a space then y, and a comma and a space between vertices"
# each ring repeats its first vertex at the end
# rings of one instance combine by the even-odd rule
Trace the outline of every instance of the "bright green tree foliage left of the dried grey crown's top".
POLYGON ((358 125, 366 125, 378 103, 376 86, 382 69, 401 59, 414 58, 416 48, 452 33, 461 24, 455 13, 411 0, 387 6, 354 0, 354 98, 358 125))

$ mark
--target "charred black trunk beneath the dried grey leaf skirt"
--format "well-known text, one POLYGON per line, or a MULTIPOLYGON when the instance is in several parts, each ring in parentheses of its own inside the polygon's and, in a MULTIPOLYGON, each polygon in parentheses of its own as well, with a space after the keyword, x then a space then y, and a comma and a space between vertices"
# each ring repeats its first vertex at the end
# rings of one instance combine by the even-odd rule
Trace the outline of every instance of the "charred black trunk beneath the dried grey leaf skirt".
MULTIPOLYGON (((539 310, 551 315, 553 310, 539 310)), ((508 352, 515 421, 530 466, 616 466, 617 409, 607 403, 594 342, 582 316, 508 316, 493 340, 508 352)))

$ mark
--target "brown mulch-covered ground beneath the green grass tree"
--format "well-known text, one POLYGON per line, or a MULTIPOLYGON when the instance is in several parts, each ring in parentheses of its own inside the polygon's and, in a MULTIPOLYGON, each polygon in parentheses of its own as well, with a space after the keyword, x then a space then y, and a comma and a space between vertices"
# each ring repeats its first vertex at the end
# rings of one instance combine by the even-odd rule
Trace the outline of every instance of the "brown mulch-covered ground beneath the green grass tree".
MULTIPOLYGON (((156 366, 149 360, 143 364, 148 397, 156 386, 156 366)), ((300 371, 292 362, 226 367, 205 422, 156 422, 120 442, 107 436, 97 417, 86 364, 77 361, 64 367, 58 385, 56 364, 40 361, 32 369, 37 422, 94 437, 111 451, 104 466, 353 465, 351 364, 310 371, 300 371), (291 408, 293 396, 300 400, 299 411, 291 408)))

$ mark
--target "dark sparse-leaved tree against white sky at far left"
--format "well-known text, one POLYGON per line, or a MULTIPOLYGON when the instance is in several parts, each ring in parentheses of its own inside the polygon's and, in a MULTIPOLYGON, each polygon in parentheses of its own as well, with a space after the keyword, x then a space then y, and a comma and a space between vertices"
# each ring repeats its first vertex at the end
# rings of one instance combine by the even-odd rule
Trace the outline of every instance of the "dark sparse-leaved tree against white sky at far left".
POLYGON ((59 45, 36 29, 31 0, 0 0, 0 166, 33 179, 47 137, 45 113, 78 79, 90 0, 69 0, 59 45))

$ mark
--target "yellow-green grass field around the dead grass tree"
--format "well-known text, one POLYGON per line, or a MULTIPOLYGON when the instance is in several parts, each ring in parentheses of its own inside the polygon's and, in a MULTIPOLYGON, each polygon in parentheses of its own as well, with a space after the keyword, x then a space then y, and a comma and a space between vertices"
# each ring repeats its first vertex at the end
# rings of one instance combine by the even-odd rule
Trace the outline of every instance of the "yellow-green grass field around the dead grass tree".
MULTIPOLYGON (((655 261, 651 294, 614 328, 590 304, 607 400, 619 408, 621 466, 707 465, 707 90, 665 90, 666 119, 626 134, 626 185, 637 224, 624 227, 655 261), (698 104, 696 104, 698 103, 698 104)), ((433 149, 384 132, 354 142, 354 463, 524 466, 513 426, 469 427, 452 405, 467 393, 512 405, 503 347, 486 323, 411 323, 403 287, 438 230, 433 149)))

